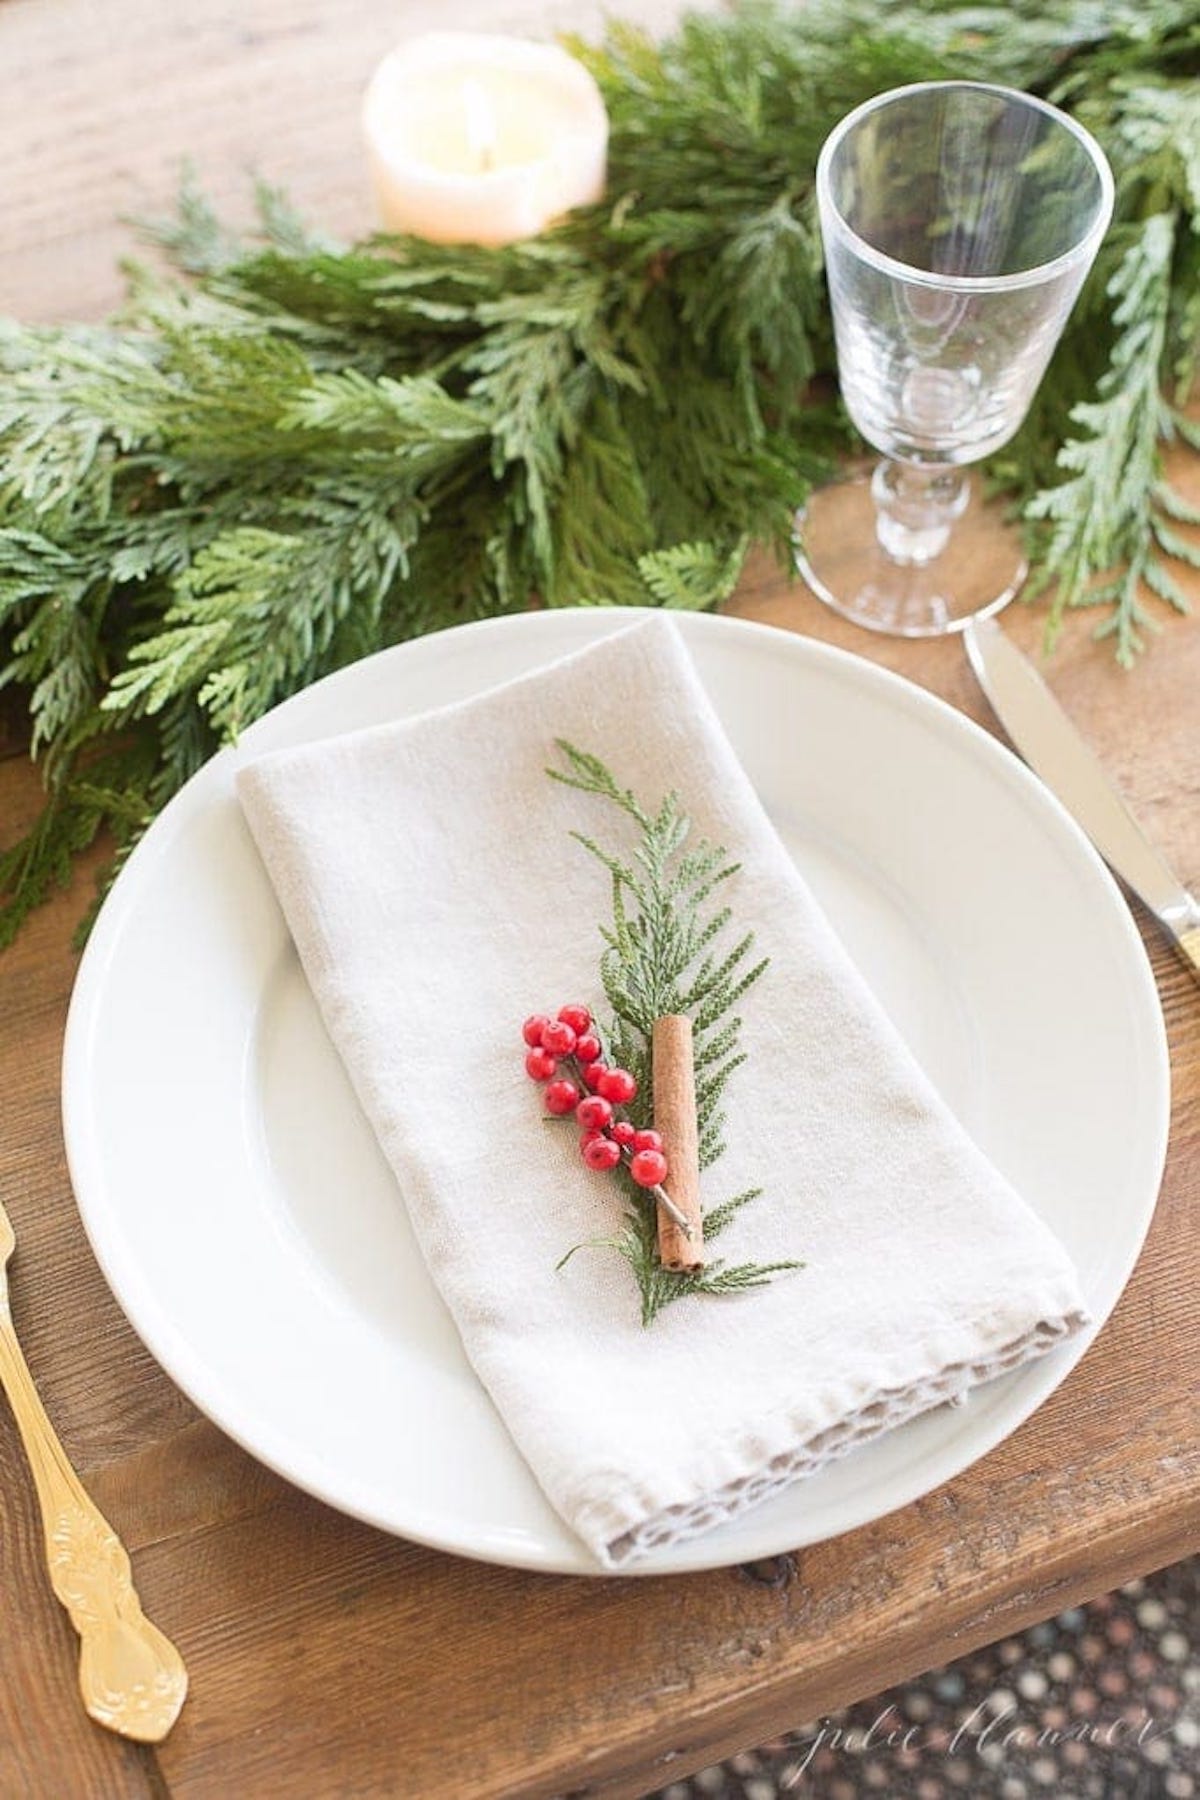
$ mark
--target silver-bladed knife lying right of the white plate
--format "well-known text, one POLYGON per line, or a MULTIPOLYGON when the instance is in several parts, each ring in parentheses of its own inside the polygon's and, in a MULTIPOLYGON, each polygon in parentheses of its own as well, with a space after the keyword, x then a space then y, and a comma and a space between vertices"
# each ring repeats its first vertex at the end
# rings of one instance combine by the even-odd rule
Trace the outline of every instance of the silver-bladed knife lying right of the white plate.
POLYGON ((972 619, 963 639, 975 679, 1015 749, 1150 907, 1200 981, 1200 900, 1150 842, 1033 662, 997 621, 972 619))

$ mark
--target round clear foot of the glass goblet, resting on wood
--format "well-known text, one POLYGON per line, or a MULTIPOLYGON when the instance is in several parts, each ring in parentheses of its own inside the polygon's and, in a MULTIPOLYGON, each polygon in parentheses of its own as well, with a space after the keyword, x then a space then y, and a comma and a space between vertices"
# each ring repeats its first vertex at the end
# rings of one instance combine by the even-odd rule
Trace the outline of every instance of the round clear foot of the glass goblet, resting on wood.
POLYGON ((946 547, 923 563, 900 563, 874 533, 871 473, 819 488, 795 515, 795 565, 819 599, 894 637, 941 637, 1007 607, 1029 565, 1020 536, 972 477, 963 517, 946 547))

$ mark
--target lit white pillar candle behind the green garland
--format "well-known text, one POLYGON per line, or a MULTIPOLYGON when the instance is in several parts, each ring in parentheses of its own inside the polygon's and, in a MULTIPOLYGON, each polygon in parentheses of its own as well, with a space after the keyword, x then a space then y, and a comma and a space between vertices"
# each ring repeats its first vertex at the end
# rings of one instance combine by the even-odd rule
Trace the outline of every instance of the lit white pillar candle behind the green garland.
POLYGON ((383 225, 435 243, 533 238, 604 193, 604 103, 551 43, 410 38, 374 72, 363 133, 383 225))

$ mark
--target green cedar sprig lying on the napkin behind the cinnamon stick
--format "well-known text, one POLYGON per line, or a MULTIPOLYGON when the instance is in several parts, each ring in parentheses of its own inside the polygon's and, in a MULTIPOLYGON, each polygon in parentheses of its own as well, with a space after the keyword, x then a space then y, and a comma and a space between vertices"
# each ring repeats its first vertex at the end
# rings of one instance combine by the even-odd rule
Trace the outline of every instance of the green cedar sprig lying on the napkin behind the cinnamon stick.
MULTIPOLYGON (((630 853, 608 850, 585 832, 570 833, 612 882, 612 923, 601 925, 601 983, 612 1024, 603 1035, 606 1053, 637 1080, 637 1096, 626 1111, 637 1125, 651 1123, 655 1019, 685 1013, 693 1022, 700 1166, 709 1168, 725 1150, 721 1096, 747 1060, 741 1017, 734 1008, 768 967, 766 958, 752 959, 754 932, 743 932, 729 947, 718 941, 729 936, 732 922, 721 889, 741 864, 730 862, 720 844, 693 842, 691 819, 676 794, 666 794, 649 812, 597 756, 565 738, 556 738, 556 747, 565 767, 547 769, 551 779, 608 801, 637 828, 630 853)), ((718 1260, 693 1274, 664 1269, 653 1201, 628 1177, 624 1188, 622 1231, 601 1242, 617 1249, 633 1269, 642 1325, 687 1294, 745 1292, 774 1274, 802 1267, 799 1262, 718 1260)), ((718 1237, 761 1192, 747 1188, 705 1211, 705 1238, 718 1237)))

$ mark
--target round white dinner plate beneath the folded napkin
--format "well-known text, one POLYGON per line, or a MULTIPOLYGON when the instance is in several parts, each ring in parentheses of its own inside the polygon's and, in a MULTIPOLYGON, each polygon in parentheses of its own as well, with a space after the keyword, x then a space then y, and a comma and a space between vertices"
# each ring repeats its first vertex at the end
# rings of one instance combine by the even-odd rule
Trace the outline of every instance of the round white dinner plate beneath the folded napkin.
MULTIPOLYGON (((88 1237, 133 1328, 196 1406, 344 1512, 464 1555, 576 1573, 599 1566, 542 1498, 462 1355, 300 976, 234 769, 243 752, 459 700, 630 617, 587 608, 441 632, 259 720, 126 864, 79 968, 63 1064, 88 1237)), ((1112 1310, 1168 1130, 1141 938, 1025 767, 858 657, 732 619, 678 625, 851 956, 1074 1256, 1096 1325, 633 1573, 819 1543, 1007 1436, 1112 1310)))

